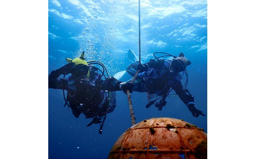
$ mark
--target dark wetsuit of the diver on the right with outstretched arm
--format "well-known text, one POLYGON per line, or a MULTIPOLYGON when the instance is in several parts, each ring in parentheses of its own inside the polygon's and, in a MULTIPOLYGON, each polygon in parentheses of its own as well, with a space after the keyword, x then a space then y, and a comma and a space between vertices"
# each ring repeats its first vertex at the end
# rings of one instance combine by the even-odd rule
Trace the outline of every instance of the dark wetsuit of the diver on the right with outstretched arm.
MULTIPOLYGON (((134 83, 132 91, 148 92, 149 95, 158 96, 167 95, 170 89, 173 89, 180 99, 186 104, 194 103, 193 96, 188 90, 183 89, 181 75, 178 72, 170 70, 171 61, 152 61, 146 63, 148 70, 141 72, 137 76, 137 82, 134 83)), ((127 72, 134 76, 138 63, 131 64, 127 72)))

